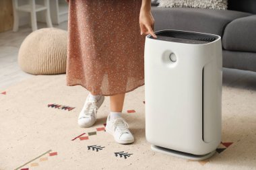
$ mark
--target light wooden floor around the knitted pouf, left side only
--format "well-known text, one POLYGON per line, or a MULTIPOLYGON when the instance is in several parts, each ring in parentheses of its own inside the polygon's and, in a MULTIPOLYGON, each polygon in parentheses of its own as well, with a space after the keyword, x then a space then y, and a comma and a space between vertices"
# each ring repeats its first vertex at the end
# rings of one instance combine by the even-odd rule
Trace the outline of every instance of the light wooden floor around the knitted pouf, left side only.
MULTIPOLYGON (((45 27, 46 24, 38 23, 38 29, 45 27)), ((54 27, 67 30, 67 22, 54 27)), ((31 32, 29 26, 22 26, 18 32, 0 33, 0 89, 4 90, 10 85, 35 76, 22 71, 17 60, 20 45, 31 32)))

